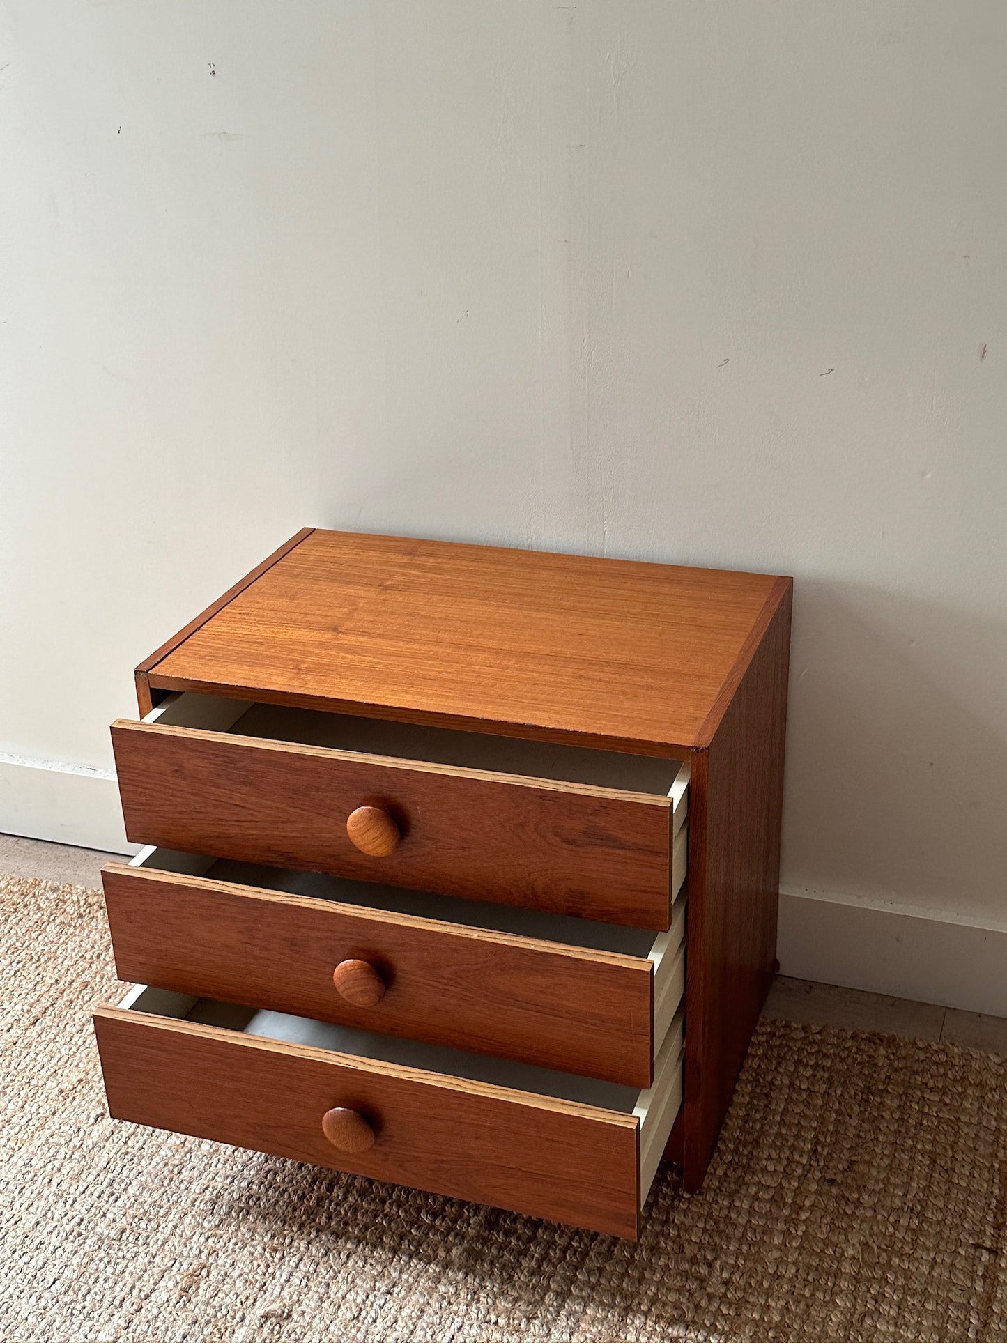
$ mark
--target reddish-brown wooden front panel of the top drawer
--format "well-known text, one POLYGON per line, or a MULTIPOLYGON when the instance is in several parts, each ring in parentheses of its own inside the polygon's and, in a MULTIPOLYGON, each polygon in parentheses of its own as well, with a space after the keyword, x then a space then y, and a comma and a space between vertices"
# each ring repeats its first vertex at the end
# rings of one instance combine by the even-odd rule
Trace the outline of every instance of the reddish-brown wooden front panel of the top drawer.
POLYGON ((654 929, 683 877, 666 796, 124 720, 113 745, 136 843, 654 929), (350 842, 360 807, 391 853, 350 842))

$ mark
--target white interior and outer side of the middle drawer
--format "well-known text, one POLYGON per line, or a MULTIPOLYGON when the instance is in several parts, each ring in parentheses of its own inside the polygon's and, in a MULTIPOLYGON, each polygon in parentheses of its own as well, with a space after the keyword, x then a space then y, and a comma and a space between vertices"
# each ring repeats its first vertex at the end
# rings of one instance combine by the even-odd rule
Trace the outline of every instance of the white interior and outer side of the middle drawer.
MULTIPOLYGON (((687 827, 675 838, 685 847, 687 827)), ((203 854, 179 853, 175 849, 142 849, 132 868, 179 872, 189 877, 208 877, 242 886, 258 886, 313 900, 333 900, 360 909, 385 909, 391 913, 435 919, 438 923, 469 928, 489 928, 568 947, 611 951, 624 956, 646 958, 654 966, 654 1041, 661 1042, 685 994, 685 923, 686 898, 681 893, 671 909, 667 932, 627 928, 623 924, 573 919, 569 915, 545 913, 520 905, 495 905, 485 900, 439 896, 430 890, 408 890, 372 881, 353 881, 322 872, 297 872, 265 864, 208 858, 203 854)))

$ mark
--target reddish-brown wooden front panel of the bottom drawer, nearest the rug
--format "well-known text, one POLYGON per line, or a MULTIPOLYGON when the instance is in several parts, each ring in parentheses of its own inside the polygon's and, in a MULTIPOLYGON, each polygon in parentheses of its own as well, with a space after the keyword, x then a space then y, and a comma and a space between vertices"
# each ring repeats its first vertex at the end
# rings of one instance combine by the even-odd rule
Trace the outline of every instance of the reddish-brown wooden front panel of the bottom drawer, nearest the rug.
POLYGON ((94 1026, 114 1119, 636 1236, 635 1115, 122 1009, 94 1026), (337 1151, 334 1108, 373 1146, 337 1151))

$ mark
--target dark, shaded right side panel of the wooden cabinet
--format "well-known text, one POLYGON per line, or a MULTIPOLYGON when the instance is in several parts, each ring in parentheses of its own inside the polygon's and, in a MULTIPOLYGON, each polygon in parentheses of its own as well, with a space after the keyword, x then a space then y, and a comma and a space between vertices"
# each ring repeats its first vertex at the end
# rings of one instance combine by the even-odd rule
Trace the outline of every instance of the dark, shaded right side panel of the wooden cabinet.
POLYGON ((698 1190, 773 975, 788 587, 706 751, 691 757, 683 1176, 698 1190))

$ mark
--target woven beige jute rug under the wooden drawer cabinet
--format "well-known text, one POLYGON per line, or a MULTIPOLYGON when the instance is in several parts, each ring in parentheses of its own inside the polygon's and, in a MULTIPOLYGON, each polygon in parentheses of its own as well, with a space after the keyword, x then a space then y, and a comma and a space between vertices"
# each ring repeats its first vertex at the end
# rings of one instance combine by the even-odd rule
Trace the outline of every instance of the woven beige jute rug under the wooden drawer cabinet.
POLYGON ((627 1245, 105 1115, 101 897, 0 881, 3 1343, 1007 1339, 1007 1060, 764 1023, 627 1245))

